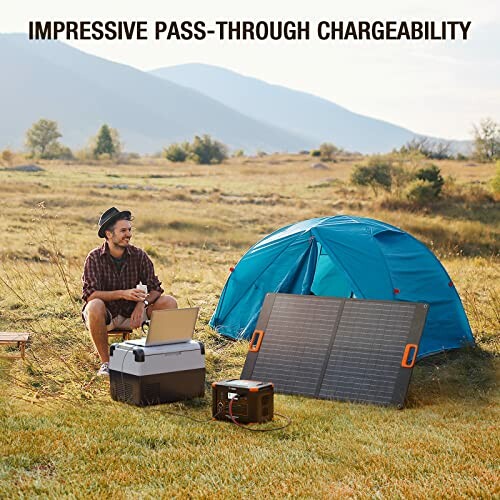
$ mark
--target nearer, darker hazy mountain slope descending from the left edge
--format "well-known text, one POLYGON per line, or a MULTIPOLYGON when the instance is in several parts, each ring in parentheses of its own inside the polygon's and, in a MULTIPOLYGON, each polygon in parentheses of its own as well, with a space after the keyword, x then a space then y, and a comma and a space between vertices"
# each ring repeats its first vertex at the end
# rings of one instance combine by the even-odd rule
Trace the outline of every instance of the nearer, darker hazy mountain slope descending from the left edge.
POLYGON ((61 142, 84 146, 103 123, 127 151, 152 153, 210 134, 245 151, 298 151, 308 137, 245 116, 220 101, 61 42, 0 34, 0 147, 19 148, 40 118, 56 120, 61 142))

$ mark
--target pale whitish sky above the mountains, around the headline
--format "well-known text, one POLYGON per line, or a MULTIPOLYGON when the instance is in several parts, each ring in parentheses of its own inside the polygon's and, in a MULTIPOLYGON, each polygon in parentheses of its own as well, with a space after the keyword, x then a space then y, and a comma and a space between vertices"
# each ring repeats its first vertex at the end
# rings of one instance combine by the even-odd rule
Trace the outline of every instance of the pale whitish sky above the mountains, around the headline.
MULTIPOLYGON (((326 98, 351 111, 444 139, 500 122, 497 0, 17 0, 0 7, 0 33, 29 21, 472 21, 467 41, 68 41, 141 70, 185 63, 231 69, 326 98)), ((152 38, 152 37, 150 37, 152 38)))

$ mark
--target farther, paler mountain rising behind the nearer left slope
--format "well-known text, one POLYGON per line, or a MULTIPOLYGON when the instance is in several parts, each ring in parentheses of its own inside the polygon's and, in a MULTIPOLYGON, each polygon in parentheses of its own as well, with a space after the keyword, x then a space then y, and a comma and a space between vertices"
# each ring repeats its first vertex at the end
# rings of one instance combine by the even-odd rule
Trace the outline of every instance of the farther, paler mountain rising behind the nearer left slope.
POLYGON ((352 113, 326 99, 216 66, 183 64, 151 73, 202 92, 256 120, 308 137, 316 147, 327 141, 349 151, 386 152, 419 135, 352 113))

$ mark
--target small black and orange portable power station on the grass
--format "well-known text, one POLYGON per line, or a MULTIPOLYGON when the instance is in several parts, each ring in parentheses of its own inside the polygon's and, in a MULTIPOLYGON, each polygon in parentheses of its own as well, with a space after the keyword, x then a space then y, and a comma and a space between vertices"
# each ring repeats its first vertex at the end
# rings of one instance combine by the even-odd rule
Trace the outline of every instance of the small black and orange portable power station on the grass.
POLYGON ((212 384, 212 416, 248 424, 274 416, 274 385, 256 380, 224 380, 212 384), (230 404, 232 401, 232 404, 230 404))

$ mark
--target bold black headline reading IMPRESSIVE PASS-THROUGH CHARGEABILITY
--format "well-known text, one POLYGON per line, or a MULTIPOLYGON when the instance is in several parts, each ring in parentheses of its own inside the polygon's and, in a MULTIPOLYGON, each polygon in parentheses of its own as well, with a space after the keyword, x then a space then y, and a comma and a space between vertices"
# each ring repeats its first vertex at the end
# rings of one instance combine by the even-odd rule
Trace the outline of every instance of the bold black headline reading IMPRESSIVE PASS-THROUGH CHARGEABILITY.
POLYGON ((30 21, 30 40, 467 40, 471 21, 30 21))

